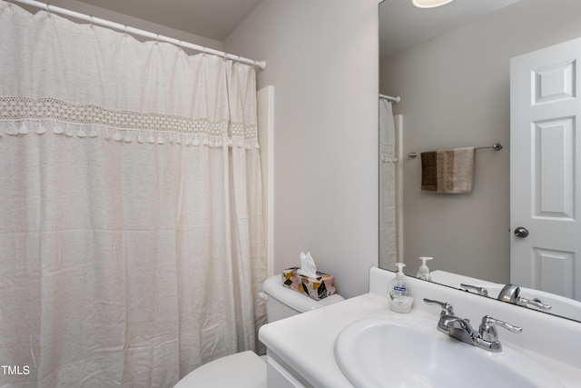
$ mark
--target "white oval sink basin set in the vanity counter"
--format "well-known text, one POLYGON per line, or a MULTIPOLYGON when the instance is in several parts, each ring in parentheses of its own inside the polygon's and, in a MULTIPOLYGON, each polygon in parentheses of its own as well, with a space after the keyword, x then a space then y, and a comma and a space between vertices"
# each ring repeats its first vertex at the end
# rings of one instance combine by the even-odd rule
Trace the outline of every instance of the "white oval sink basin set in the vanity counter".
POLYGON ((335 358, 358 388, 563 387, 506 344, 490 353, 438 332, 435 322, 407 315, 351 323, 337 337, 335 358))

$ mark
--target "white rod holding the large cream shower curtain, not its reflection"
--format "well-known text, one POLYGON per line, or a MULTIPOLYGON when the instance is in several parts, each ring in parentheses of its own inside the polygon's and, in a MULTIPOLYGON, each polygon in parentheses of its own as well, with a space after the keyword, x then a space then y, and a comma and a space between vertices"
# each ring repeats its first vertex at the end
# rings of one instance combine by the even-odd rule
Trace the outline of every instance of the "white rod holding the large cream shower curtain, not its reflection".
POLYGON ((123 31, 124 33, 129 33, 129 34, 133 34, 133 35, 140 35, 140 36, 144 36, 146 38, 155 39, 156 41, 171 43, 172 45, 178 45, 180 47, 191 48, 192 50, 199 51, 199 52, 204 53, 204 54, 212 54, 212 55, 222 56, 224 58, 231 59, 232 61, 241 62, 242 64, 258 66, 261 70, 264 70, 266 68, 266 61, 264 61, 264 60, 255 61, 253 59, 244 58, 242 56, 224 53, 222 51, 214 50, 213 48, 204 47, 202 45, 194 45, 192 43, 183 42, 179 39, 175 39, 175 38, 172 38, 169 36, 154 34, 152 32, 141 30, 139 28, 134 28, 134 27, 130 27, 128 25, 122 25, 120 23, 111 22, 109 20, 105 20, 105 19, 102 19, 100 17, 94 17, 91 15, 81 14, 81 13, 76 12, 76 11, 71 11, 69 9, 61 8, 61 7, 54 6, 54 5, 49 5, 49 4, 38 2, 35 0, 8 0, 8 2, 9 3, 11 3, 11 2, 21 3, 24 5, 31 5, 31 6, 35 6, 37 8, 44 8, 44 10, 48 13, 54 12, 55 14, 71 16, 71 17, 89 22, 92 25, 102 25, 103 27, 113 28, 116 30, 123 31))

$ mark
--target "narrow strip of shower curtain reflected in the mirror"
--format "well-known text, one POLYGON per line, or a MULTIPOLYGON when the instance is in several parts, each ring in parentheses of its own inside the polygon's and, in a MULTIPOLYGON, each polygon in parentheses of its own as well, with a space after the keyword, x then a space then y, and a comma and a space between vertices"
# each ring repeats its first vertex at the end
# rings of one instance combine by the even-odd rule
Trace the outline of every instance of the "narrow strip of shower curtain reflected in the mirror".
POLYGON ((396 244, 396 134, 392 103, 379 99, 379 267, 395 269, 396 244))

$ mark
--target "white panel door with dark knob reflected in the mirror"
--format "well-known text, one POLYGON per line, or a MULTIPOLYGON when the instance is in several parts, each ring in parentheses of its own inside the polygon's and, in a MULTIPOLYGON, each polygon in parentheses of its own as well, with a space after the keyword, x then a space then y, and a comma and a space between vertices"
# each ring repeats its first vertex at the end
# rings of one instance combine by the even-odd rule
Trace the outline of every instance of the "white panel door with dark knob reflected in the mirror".
POLYGON ((577 300, 580 61, 576 39, 510 62, 510 281, 577 300))

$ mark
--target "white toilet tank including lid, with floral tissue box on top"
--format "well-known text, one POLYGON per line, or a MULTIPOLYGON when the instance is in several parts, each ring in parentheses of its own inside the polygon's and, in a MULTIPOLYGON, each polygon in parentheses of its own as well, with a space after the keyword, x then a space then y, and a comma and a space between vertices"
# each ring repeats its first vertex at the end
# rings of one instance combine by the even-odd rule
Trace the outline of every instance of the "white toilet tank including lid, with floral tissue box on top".
POLYGON ((284 287, 281 274, 266 279, 262 284, 262 291, 267 295, 266 314, 268 322, 278 321, 298 313, 306 313, 344 300, 341 295, 335 293, 320 301, 315 301, 309 296, 284 287))

